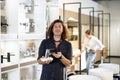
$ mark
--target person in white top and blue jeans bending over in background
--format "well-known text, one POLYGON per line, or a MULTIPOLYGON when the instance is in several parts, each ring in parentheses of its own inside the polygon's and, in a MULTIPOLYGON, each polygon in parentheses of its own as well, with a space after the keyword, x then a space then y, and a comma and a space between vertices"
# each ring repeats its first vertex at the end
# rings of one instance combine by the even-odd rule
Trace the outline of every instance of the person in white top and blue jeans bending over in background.
POLYGON ((86 51, 86 58, 87 58, 86 70, 87 70, 87 74, 89 74, 89 69, 93 68, 96 53, 98 53, 99 51, 102 51, 103 48, 104 48, 104 45, 102 44, 102 42, 97 37, 93 36, 92 31, 89 30, 89 29, 86 30, 81 52, 80 52, 80 54, 77 54, 77 56, 79 57, 81 55, 81 53, 86 51))

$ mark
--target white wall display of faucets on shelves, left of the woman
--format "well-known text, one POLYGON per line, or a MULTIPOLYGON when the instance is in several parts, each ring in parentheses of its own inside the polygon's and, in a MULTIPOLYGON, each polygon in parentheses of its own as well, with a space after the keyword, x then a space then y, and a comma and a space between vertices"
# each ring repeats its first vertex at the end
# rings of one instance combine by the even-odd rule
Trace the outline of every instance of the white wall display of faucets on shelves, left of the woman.
POLYGON ((38 48, 46 38, 47 23, 59 18, 58 3, 2 0, 0 5, 0 80, 38 80, 38 48))

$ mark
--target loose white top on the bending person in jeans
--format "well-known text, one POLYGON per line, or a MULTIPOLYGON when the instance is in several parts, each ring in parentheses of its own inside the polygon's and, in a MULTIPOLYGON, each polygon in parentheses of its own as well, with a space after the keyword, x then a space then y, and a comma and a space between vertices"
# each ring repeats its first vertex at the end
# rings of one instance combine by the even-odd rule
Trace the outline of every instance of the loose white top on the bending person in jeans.
POLYGON ((85 37, 82 50, 102 50, 105 46, 98 40, 97 37, 91 36, 91 39, 85 37))

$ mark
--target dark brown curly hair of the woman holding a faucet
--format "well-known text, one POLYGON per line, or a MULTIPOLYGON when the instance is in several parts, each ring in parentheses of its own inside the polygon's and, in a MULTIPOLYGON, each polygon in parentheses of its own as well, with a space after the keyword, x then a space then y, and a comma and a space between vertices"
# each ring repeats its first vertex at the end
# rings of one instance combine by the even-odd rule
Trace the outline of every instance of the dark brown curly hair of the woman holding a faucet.
POLYGON ((61 39, 67 39, 68 38, 68 31, 67 31, 67 28, 65 27, 65 25, 63 24, 63 21, 60 20, 60 19, 56 19, 54 20, 49 28, 48 28, 48 31, 47 31, 47 38, 53 38, 53 26, 55 25, 55 23, 61 23, 62 24, 62 27, 63 27, 63 32, 62 32, 62 35, 61 35, 61 39))

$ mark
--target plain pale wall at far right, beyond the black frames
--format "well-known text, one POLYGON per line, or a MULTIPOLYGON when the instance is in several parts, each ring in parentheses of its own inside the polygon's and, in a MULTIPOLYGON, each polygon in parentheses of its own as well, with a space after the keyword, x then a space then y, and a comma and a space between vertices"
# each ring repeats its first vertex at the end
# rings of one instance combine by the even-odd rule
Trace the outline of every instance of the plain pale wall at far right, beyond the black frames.
POLYGON ((120 56, 120 1, 110 1, 108 6, 111 13, 111 55, 120 56))

